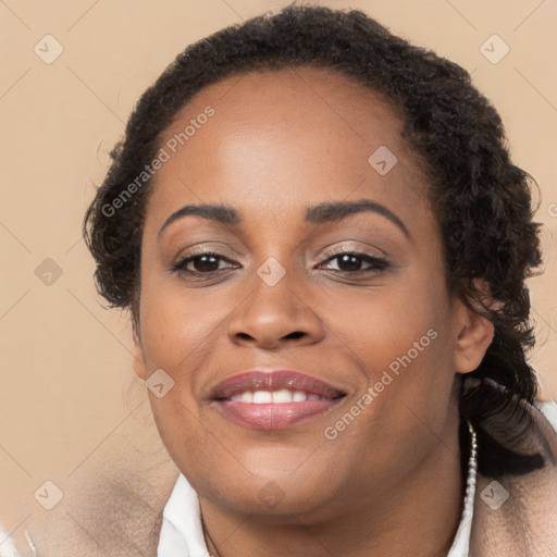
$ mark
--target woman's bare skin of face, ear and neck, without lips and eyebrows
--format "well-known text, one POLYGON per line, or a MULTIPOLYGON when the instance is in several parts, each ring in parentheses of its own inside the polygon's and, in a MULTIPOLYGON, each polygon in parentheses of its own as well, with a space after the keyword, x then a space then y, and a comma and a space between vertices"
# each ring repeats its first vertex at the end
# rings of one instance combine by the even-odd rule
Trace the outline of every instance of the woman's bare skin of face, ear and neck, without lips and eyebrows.
POLYGON ((329 70, 256 72, 200 91, 161 145, 208 106, 214 115, 151 184, 134 366, 144 380, 163 369, 174 381, 164 397, 150 394, 151 407, 199 494, 209 549, 443 555, 463 495, 456 377, 478 367, 493 326, 447 292, 428 183, 401 120, 376 94, 329 70), (380 146, 398 159, 385 175, 368 162, 380 146), (410 238, 374 212, 305 222, 307 207, 360 199, 396 213, 410 238), (185 216, 159 235, 184 205, 220 202, 234 206, 242 223, 185 216), (190 262, 199 276, 172 272, 194 247, 222 256, 221 270, 201 275, 190 262), (387 267, 354 274, 331 259, 341 249, 387 267), (270 257, 286 272, 274 286, 257 274, 270 257), (430 330, 435 339, 326 438, 325 428, 430 330), (293 428, 243 428, 209 393, 260 367, 300 371, 346 396, 293 428))

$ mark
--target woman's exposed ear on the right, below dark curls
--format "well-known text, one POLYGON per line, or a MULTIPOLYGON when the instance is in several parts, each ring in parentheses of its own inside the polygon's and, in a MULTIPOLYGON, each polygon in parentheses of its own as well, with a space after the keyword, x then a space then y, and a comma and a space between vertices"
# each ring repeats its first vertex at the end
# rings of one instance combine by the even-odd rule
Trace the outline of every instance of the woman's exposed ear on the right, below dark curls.
MULTIPOLYGON (((487 296, 484 283, 474 280, 474 286, 487 296)), ((494 334, 495 329, 487 318, 469 308, 462 300, 456 300, 453 335, 455 371, 457 373, 474 371, 482 362, 494 334)))

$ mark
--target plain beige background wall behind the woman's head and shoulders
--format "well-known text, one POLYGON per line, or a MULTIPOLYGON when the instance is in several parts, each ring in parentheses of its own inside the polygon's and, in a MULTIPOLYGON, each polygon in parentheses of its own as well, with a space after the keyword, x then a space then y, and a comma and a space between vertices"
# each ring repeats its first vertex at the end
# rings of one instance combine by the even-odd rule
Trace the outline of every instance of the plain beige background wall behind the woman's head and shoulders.
MULTIPOLYGON (((114 451, 133 458, 154 431, 132 372, 127 318, 103 309, 81 238, 107 149, 140 92, 186 45, 287 3, 0 1, 0 517, 8 531, 17 535, 49 512, 34 497, 45 481, 64 494, 50 512, 64 512, 72 485, 110 467, 114 451), (46 49, 47 34, 64 49, 51 64, 34 51, 46 49), (62 272, 50 285, 47 258, 62 272)), ((532 361, 544 397, 557 396, 557 1, 313 3, 360 8, 458 62, 498 109, 515 162, 541 187, 546 263, 530 282, 540 338, 532 361), (493 34, 510 48, 496 64, 480 49, 493 34)))

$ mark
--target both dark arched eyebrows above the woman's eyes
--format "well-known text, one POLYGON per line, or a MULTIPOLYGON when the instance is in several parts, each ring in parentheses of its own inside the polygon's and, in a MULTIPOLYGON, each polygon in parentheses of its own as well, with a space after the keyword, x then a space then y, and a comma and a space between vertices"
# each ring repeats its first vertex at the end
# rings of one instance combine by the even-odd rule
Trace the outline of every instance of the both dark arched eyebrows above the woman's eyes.
MULTIPOLYGON (((313 207, 308 207, 305 220, 313 224, 338 222, 351 214, 363 211, 371 211, 388 219, 400 228, 408 239, 412 238, 405 223, 393 211, 387 209, 384 205, 372 201, 371 199, 359 199, 358 201, 324 201, 313 207)), ((216 221, 224 225, 238 225, 242 223, 240 214, 232 206, 222 203, 186 205, 177 211, 174 211, 164 221, 164 224, 159 231, 159 236, 173 222, 190 215, 216 221)))

